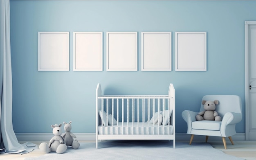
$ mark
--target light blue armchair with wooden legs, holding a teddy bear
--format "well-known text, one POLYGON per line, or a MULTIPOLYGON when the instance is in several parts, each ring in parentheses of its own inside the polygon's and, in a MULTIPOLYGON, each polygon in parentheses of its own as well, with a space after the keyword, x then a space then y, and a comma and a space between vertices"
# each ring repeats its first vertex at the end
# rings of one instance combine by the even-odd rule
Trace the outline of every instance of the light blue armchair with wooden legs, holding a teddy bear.
POLYGON ((182 118, 186 121, 188 130, 187 134, 191 134, 189 145, 191 145, 194 135, 222 137, 225 149, 227 149, 225 137, 229 137, 232 145, 234 142, 231 136, 236 134, 236 123, 242 120, 241 99, 236 95, 206 95, 202 100, 214 101, 218 100, 216 111, 222 118, 222 121, 196 121, 195 116, 204 110, 204 105, 201 104, 199 112, 185 110, 182 112, 182 118))

